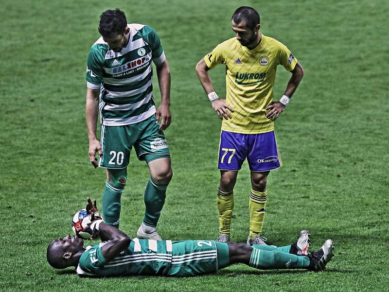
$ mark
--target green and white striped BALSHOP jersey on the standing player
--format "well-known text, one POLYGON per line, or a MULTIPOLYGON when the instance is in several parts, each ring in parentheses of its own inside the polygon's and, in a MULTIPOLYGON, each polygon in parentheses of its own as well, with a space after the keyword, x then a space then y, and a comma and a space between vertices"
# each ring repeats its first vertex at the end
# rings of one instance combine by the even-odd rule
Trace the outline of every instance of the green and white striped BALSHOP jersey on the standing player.
POLYGON ((100 90, 101 124, 122 126, 140 122, 155 112, 153 69, 165 60, 156 31, 143 24, 127 24, 128 44, 120 52, 109 50, 100 37, 88 54, 87 86, 100 90))

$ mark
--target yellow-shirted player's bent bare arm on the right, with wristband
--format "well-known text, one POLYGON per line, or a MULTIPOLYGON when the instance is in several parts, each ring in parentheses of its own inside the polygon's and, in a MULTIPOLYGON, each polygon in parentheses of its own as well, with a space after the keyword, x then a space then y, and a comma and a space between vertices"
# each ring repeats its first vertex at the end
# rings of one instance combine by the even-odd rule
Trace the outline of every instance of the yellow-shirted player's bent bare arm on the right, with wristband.
POLYGON ((297 62, 295 68, 291 71, 292 76, 288 81, 288 85, 286 86, 283 97, 279 102, 272 102, 270 105, 266 107, 266 110, 269 112, 266 114, 267 119, 277 120, 277 118, 281 115, 285 106, 289 103, 290 98, 293 93, 296 91, 297 87, 300 84, 302 76, 304 76, 304 70, 299 62, 297 62))

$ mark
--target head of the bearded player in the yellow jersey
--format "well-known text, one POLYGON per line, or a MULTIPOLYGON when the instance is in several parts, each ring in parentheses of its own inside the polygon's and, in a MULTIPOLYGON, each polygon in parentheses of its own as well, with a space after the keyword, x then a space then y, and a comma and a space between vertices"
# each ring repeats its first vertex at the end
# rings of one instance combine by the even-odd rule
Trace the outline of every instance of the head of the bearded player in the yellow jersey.
POLYGON ((248 46, 257 39, 261 27, 258 12, 248 6, 242 6, 232 15, 232 30, 236 33, 236 39, 242 46, 248 46))

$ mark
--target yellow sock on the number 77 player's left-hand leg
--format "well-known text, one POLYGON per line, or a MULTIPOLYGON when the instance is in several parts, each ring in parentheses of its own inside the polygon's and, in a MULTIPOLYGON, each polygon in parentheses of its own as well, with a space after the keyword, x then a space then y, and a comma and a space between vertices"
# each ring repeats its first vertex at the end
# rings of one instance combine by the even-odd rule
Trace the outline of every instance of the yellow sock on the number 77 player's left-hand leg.
POLYGON ((217 211, 219 216, 219 233, 230 236, 232 209, 234 207, 233 191, 217 190, 217 211))

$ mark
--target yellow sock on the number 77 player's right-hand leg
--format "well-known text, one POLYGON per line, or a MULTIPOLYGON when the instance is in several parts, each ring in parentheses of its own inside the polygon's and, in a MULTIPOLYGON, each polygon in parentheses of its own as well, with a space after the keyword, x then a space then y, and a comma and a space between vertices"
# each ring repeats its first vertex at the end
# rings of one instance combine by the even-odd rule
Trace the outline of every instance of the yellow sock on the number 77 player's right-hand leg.
POLYGON ((251 189, 248 209, 250 210, 250 233, 249 238, 260 235, 265 219, 266 191, 260 192, 251 189))

